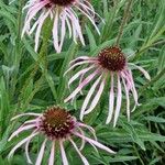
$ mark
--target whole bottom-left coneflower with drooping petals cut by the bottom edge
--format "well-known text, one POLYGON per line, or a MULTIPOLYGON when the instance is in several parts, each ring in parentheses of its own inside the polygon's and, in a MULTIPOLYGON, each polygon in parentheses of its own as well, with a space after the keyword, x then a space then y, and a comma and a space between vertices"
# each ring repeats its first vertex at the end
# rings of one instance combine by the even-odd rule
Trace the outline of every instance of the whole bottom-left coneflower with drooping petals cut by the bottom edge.
POLYGON ((87 161, 87 158, 81 154, 81 150, 84 148, 86 142, 92 145, 95 150, 99 147, 101 150, 107 151, 108 153, 111 153, 111 154, 114 153, 112 150, 110 150, 109 147, 105 146, 103 144, 97 141, 95 130, 91 127, 76 121, 76 119, 72 117, 69 112, 67 112, 65 109, 62 109, 59 107, 51 107, 44 113, 23 113, 23 114, 19 114, 12 118, 12 120, 15 120, 24 116, 30 116, 30 117, 35 117, 35 118, 32 120, 25 121, 16 131, 14 131, 11 134, 11 136, 9 138, 9 141, 11 141, 14 136, 22 133, 23 131, 31 130, 32 133, 28 135, 26 138, 24 138, 21 142, 19 142, 11 150, 11 152, 9 153, 9 158, 12 157, 15 150, 18 150, 21 145, 25 144, 25 155, 26 155, 28 162, 32 163, 30 155, 29 155, 30 153, 29 145, 30 145, 31 140, 40 134, 44 135, 44 141, 41 145, 35 165, 42 164, 42 160, 46 151, 47 143, 51 143, 52 145, 51 152, 50 152, 48 165, 54 164, 55 151, 57 148, 61 150, 63 164, 68 165, 67 156, 65 153, 65 146, 64 146, 65 142, 70 142, 72 146, 80 156, 85 165, 89 165, 89 162, 87 161), (82 129, 89 130, 89 132, 94 135, 94 139, 86 136, 82 129), (74 142, 73 139, 75 138, 78 138, 81 140, 80 147, 78 147, 77 144, 74 142), (56 146, 59 146, 59 147, 56 147, 56 146))

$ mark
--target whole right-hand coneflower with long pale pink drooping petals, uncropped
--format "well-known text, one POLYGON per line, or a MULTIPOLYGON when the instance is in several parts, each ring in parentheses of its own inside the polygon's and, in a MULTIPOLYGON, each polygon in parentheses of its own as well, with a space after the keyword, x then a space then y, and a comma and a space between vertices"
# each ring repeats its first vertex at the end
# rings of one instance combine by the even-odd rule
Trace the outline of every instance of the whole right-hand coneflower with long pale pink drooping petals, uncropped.
POLYGON ((150 80, 148 74, 142 67, 136 66, 135 64, 132 63, 128 63, 124 54, 117 46, 107 47, 102 50, 99 53, 98 57, 80 56, 74 59, 70 63, 70 65, 72 65, 70 68, 65 74, 67 74, 77 66, 81 65, 88 66, 86 68, 80 69, 69 79, 68 86, 70 86, 76 79, 80 77, 78 87, 65 99, 65 102, 74 100, 77 94, 81 92, 82 88, 85 88, 91 80, 96 79, 82 103, 80 110, 80 120, 82 120, 85 114, 90 113, 95 109, 95 107, 99 102, 99 99, 105 89, 105 85, 106 82, 108 82, 109 77, 110 77, 109 112, 106 123, 108 124, 113 118, 113 127, 116 127, 117 124, 117 120, 119 118, 119 113, 121 110, 122 88, 125 92, 127 116, 128 120, 130 120, 130 91, 132 92, 135 101, 133 110, 139 105, 138 92, 135 89, 130 66, 138 68, 150 80), (117 100, 114 100, 116 89, 117 89, 117 100))

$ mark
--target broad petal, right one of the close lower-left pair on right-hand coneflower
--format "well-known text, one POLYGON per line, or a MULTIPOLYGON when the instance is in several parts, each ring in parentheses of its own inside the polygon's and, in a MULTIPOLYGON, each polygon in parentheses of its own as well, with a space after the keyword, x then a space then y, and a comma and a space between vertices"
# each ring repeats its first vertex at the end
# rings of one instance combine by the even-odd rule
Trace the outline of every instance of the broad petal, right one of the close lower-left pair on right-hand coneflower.
POLYGON ((103 88, 105 88, 105 84, 106 84, 106 77, 101 81, 99 90, 96 94, 96 96, 94 97, 94 100, 91 101, 91 105, 90 105, 89 109, 87 109, 84 114, 88 114, 88 113, 90 113, 95 109, 95 107, 99 102, 99 99, 100 99, 100 97, 102 95, 102 91, 103 91, 103 88))

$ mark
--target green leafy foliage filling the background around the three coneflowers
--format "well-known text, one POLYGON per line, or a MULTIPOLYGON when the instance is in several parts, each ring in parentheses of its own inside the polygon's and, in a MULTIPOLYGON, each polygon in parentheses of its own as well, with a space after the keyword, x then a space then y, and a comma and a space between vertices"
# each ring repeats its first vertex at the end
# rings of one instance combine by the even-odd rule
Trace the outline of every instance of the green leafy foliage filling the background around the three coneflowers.
MULTIPOLYGON (((18 139, 8 142, 12 130, 23 122, 11 123, 11 117, 26 111, 42 112, 51 105, 64 106, 78 117, 85 96, 79 97, 74 105, 64 105, 63 100, 69 91, 66 86, 68 77, 63 77, 63 74, 74 57, 95 56, 101 47, 114 43, 127 0, 91 0, 96 11, 106 21, 103 24, 99 19, 96 20, 101 35, 96 33, 87 19, 81 18, 86 46, 75 45, 66 37, 61 54, 55 53, 52 40, 44 36, 46 25, 43 38, 48 42, 42 46, 38 54, 33 50, 33 36, 21 40, 24 20, 22 7, 26 1, 15 0, 10 6, 9 2, 0 0, 0 165, 23 165, 26 164, 23 147, 16 151, 11 162, 7 160, 11 147, 26 135, 22 133, 18 139)), ((164 21, 165 0, 133 0, 120 46, 130 56, 131 62, 143 66, 150 73, 152 80, 146 81, 141 73, 134 70, 142 106, 131 114, 131 122, 127 121, 123 101, 123 113, 120 114, 117 128, 105 125, 108 111, 107 92, 96 111, 85 119, 96 129, 99 141, 118 152, 116 155, 108 155, 102 151, 98 154, 86 145, 82 153, 90 164, 165 163, 164 21)), ((33 144, 31 156, 35 160, 40 139, 33 144)), ((81 164, 78 157, 75 158, 74 150, 67 146, 67 151, 70 164, 81 164)), ((46 156, 43 164, 46 164, 46 156)), ((61 164, 59 158, 57 164, 61 164)))

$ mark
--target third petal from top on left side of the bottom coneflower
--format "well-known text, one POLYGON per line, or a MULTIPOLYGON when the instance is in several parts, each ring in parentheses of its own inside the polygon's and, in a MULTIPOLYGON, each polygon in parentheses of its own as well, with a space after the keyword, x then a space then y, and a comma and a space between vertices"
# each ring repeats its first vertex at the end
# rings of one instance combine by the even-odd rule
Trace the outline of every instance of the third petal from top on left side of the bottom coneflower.
POLYGON ((34 138, 36 134, 38 134, 38 132, 32 133, 32 134, 29 135, 28 138, 23 139, 21 142, 19 142, 19 143, 10 151, 10 153, 9 153, 9 155, 8 155, 8 158, 10 160, 10 158, 13 156, 15 150, 18 150, 22 144, 24 144, 25 142, 28 142, 30 139, 34 138))

